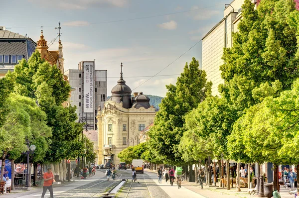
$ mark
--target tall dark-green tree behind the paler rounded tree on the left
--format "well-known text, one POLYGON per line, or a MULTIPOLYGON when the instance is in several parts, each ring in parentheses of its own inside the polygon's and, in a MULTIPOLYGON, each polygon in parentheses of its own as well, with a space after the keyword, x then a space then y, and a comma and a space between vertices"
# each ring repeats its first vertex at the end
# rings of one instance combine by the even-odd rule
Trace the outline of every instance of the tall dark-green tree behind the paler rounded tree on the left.
POLYGON ((32 91, 39 91, 40 108, 47 115, 47 126, 52 129, 50 146, 43 161, 58 162, 61 159, 76 157, 83 144, 78 142, 82 126, 75 123, 76 107, 63 107, 69 97, 70 86, 64 81, 63 74, 54 65, 40 58, 36 51, 26 60, 15 66, 14 72, 6 75, 14 80, 14 91, 22 96, 30 97, 32 91))

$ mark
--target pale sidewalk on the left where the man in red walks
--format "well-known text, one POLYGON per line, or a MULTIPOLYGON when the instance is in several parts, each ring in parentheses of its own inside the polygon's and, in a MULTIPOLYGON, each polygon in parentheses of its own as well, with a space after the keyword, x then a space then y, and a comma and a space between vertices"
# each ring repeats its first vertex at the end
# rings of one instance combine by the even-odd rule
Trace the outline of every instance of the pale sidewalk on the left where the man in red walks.
MULTIPOLYGON (((87 177, 86 179, 81 179, 75 177, 71 181, 61 182, 61 185, 53 185, 54 196, 64 193, 66 191, 75 189, 77 187, 89 184, 105 176, 104 173, 97 171, 95 176, 87 177)), ((31 187, 29 190, 14 190, 11 193, 0 194, 0 198, 32 198, 40 197, 43 191, 43 187, 31 187)), ((50 196, 49 191, 47 191, 45 196, 50 196)))

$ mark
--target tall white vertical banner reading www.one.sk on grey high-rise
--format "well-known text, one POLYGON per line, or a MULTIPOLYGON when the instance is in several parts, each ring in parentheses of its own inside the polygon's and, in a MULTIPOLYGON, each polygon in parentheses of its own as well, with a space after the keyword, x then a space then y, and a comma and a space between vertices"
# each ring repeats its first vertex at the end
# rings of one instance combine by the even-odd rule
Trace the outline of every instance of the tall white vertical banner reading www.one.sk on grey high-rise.
POLYGON ((94 112, 94 62, 83 63, 83 112, 94 112))

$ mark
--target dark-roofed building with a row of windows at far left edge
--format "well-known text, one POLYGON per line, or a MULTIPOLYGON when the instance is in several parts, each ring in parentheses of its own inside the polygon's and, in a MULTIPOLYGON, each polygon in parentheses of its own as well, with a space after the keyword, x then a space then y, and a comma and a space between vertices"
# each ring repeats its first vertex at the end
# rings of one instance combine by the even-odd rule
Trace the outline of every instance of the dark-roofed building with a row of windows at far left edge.
POLYGON ((35 51, 37 43, 31 38, 6 30, 0 26, 0 78, 23 58, 28 60, 35 51))

